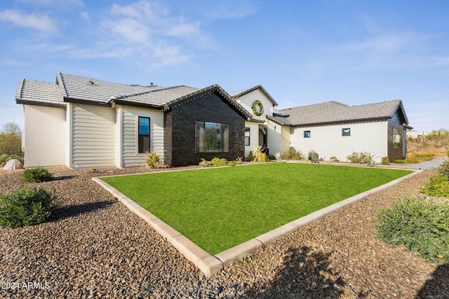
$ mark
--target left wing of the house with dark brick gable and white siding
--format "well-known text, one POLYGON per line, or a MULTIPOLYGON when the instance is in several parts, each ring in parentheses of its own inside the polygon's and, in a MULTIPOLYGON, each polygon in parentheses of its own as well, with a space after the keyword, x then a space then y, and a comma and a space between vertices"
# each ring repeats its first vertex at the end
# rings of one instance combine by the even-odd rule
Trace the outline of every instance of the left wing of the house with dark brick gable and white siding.
POLYGON ((25 167, 138 167, 146 152, 168 165, 244 155, 252 115, 219 85, 163 88, 58 73, 55 83, 21 79, 25 167))

